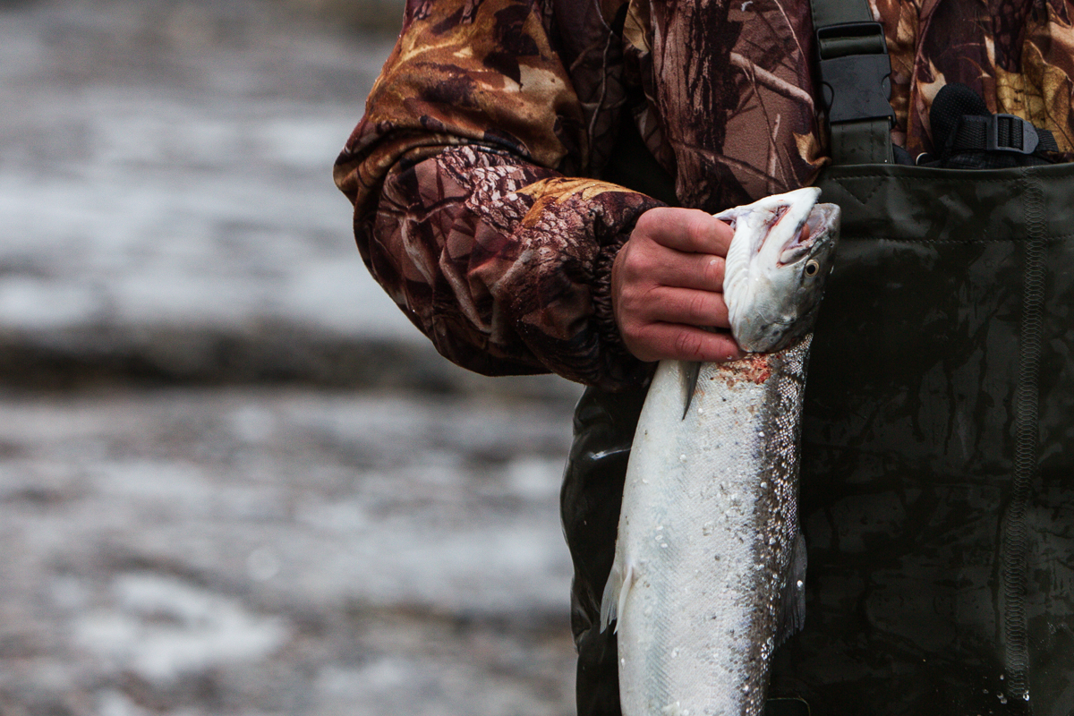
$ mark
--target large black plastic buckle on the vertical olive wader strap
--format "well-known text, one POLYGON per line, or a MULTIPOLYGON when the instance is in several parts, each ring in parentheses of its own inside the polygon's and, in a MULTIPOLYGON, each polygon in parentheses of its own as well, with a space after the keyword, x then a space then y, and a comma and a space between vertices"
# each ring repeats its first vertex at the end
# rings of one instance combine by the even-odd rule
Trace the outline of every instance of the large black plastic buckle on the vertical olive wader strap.
POLYGON ((883 26, 880 23, 831 25, 818 29, 816 40, 828 121, 887 117, 894 125, 891 60, 883 26), (861 52, 870 46, 881 52, 861 52))

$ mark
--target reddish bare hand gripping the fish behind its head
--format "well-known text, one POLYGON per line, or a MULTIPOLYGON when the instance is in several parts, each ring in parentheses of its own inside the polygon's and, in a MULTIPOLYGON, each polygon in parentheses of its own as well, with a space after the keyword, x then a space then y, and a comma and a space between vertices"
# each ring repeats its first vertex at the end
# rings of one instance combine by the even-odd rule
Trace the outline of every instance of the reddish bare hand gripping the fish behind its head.
POLYGON ((642 361, 741 357, 723 294, 732 236, 730 227, 698 209, 641 215, 611 269, 612 312, 627 350, 642 361))

